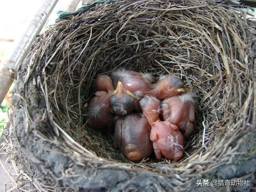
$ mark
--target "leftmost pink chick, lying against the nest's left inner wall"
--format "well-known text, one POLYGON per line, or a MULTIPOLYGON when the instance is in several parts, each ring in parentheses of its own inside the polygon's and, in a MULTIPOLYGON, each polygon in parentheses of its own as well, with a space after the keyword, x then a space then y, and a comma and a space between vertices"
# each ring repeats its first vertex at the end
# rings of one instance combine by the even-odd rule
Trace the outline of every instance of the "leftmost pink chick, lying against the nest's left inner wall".
POLYGON ((112 80, 107 75, 99 75, 96 78, 96 86, 98 91, 95 92, 95 97, 90 101, 87 110, 89 115, 87 124, 92 128, 108 128, 108 132, 112 132, 114 128, 113 114, 110 111, 109 103, 109 98, 114 90, 112 80))

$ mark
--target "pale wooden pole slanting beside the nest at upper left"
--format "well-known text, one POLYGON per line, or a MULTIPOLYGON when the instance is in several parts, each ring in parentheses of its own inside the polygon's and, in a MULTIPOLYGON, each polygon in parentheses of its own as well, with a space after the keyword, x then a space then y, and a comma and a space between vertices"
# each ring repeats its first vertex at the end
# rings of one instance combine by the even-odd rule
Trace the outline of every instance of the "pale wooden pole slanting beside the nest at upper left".
POLYGON ((13 50, 9 52, 9 55, 0 64, 0 103, 2 103, 5 94, 13 83, 18 64, 24 61, 35 36, 42 30, 57 2, 58 0, 44 0, 44 3, 37 11, 37 14, 30 20, 30 24, 25 31, 15 39, 13 50))

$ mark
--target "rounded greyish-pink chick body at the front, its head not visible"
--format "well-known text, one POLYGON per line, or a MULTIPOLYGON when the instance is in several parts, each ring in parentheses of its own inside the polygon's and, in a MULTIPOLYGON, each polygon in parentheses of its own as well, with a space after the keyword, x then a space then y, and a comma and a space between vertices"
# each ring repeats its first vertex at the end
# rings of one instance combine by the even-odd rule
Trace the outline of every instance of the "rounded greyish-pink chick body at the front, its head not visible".
POLYGON ((153 153, 150 131, 147 118, 140 118, 137 114, 118 119, 114 132, 114 148, 120 148, 121 153, 131 161, 147 158, 153 153))

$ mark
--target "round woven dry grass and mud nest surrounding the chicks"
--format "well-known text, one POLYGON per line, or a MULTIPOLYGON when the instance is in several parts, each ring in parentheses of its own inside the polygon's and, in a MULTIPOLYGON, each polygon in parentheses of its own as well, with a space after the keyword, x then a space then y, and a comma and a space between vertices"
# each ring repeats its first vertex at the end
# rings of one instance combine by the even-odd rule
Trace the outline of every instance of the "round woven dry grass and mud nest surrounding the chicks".
POLYGON ((222 1, 123 0, 58 20, 20 65, 13 124, 22 153, 42 178, 71 190, 252 181, 256 30, 244 17, 222 1), (118 68, 176 73, 195 92, 195 132, 182 159, 130 162, 113 149, 112 135, 86 124, 95 77, 118 68))

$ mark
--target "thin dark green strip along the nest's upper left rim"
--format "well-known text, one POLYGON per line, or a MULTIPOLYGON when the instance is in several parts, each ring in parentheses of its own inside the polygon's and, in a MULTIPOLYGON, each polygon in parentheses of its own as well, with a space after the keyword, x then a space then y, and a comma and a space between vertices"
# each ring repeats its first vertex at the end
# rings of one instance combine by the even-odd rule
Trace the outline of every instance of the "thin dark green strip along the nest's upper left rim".
POLYGON ((58 11, 57 14, 58 14, 59 19, 64 19, 65 17, 68 17, 70 15, 76 15, 76 14, 79 14, 86 10, 89 10, 90 8, 96 6, 97 4, 109 3, 109 2, 113 2, 113 1, 118 1, 118 0, 96 0, 93 3, 91 3, 89 5, 84 5, 84 6, 80 7, 78 10, 75 10, 73 12, 58 11))

